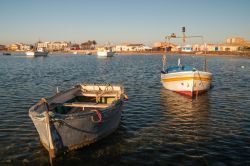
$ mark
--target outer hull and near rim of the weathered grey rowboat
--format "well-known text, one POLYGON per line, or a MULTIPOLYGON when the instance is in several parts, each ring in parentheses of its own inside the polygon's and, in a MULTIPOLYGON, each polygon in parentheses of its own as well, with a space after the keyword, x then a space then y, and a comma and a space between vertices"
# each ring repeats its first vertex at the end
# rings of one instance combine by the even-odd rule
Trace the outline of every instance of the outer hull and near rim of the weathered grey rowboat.
MULTIPOLYGON (((78 90, 79 88, 76 87, 58 94, 48 99, 48 103, 68 101, 78 90)), ((43 146, 49 151, 51 157, 56 157, 63 152, 84 147, 113 133, 119 127, 123 102, 123 98, 120 98, 105 108, 94 108, 71 114, 58 114, 50 111, 47 112, 50 117, 49 121, 46 119, 46 103, 39 102, 30 108, 29 116, 43 146)))

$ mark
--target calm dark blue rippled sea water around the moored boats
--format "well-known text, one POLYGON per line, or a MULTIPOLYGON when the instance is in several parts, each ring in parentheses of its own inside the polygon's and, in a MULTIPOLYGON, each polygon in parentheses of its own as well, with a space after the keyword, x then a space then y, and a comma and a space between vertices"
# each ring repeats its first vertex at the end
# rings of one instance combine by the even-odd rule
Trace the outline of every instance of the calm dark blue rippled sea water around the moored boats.
MULTIPOLYGON (((168 56, 202 66, 204 57, 168 56)), ((122 83, 118 130, 54 165, 250 165, 250 59, 208 57, 213 89, 197 100, 165 90, 161 56, 0 56, 0 165, 48 165, 28 109, 56 87, 122 83)))

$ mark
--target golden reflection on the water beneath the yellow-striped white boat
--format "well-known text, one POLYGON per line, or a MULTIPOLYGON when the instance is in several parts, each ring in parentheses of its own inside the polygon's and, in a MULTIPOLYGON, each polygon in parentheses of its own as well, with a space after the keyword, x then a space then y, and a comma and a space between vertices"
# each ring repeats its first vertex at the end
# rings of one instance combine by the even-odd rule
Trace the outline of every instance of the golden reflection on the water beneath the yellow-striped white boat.
POLYGON ((178 138, 179 143, 207 139, 211 127, 209 94, 192 100, 162 89, 160 101, 168 134, 178 138))

